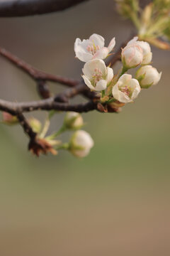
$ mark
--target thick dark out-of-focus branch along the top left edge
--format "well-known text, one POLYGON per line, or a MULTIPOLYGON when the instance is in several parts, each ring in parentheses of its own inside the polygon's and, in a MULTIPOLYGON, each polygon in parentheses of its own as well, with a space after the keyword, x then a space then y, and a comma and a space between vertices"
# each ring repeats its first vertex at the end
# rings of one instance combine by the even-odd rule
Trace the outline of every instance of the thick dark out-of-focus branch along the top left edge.
POLYGON ((33 16, 63 11, 89 0, 1 0, 0 17, 33 16))

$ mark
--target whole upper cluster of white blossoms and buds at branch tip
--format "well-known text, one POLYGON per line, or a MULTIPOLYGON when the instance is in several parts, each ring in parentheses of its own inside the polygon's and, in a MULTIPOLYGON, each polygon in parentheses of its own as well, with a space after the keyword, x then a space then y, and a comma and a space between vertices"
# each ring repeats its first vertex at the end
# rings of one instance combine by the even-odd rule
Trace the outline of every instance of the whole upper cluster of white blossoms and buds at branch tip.
POLYGON ((108 47, 105 47, 105 40, 102 36, 94 33, 89 39, 81 41, 79 38, 74 43, 74 51, 79 60, 85 62, 82 69, 82 78, 85 84, 93 91, 103 92, 102 95, 122 103, 135 100, 141 88, 156 85, 162 73, 158 73, 156 68, 148 65, 152 61, 152 51, 149 43, 137 41, 137 37, 128 42, 121 53, 123 69, 121 74, 113 75, 113 69, 106 67, 103 59, 108 57, 115 46, 115 38, 111 40, 108 47), (136 68, 136 77, 125 74, 130 68, 136 68), (108 95, 106 90, 112 87, 112 95, 108 95))

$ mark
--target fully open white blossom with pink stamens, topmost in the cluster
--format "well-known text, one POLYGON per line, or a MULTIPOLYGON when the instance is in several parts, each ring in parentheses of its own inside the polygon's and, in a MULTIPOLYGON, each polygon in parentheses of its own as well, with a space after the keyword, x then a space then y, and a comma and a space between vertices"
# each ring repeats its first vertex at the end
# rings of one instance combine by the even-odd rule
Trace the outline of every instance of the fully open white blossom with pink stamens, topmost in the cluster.
POLYGON ((84 39, 83 41, 81 41, 80 38, 77 38, 74 43, 74 51, 76 57, 84 62, 95 58, 103 60, 108 56, 108 53, 111 53, 113 50, 115 46, 115 38, 111 40, 108 47, 105 47, 104 45, 105 40, 103 36, 94 33, 89 39, 84 39))

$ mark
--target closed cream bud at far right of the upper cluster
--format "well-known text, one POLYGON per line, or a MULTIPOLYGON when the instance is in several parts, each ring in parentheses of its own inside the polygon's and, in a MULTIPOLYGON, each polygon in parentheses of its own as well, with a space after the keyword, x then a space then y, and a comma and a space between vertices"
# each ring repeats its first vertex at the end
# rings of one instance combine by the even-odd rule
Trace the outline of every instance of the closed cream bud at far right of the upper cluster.
POLYGON ((159 73, 157 68, 153 68, 152 65, 144 65, 139 68, 136 73, 136 79, 139 80, 142 88, 148 88, 151 85, 157 85, 161 79, 162 72, 159 73))

